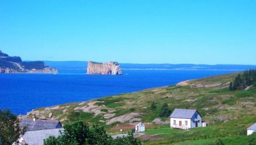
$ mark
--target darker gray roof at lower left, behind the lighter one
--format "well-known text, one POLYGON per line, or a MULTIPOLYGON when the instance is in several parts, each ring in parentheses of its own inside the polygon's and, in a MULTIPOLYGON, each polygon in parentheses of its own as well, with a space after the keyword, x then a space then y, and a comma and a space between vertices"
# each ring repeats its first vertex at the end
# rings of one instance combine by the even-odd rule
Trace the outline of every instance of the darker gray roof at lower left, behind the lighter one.
POLYGON ((55 129, 55 128, 62 128, 62 125, 59 121, 51 121, 51 120, 41 120, 24 118, 22 122, 20 122, 20 127, 23 128, 27 126, 26 131, 38 131, 43 129, 55 129))

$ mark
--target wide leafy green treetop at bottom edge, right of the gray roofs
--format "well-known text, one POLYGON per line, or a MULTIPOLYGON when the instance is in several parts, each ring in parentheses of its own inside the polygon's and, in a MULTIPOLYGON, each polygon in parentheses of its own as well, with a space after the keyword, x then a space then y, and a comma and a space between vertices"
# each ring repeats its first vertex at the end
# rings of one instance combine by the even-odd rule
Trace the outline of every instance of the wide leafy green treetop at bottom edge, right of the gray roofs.
POLYGON ((44 140, 45 145, 86 145, 86 144, 134 144, 140 145, 140 140, 134 139, 133 135, 129 134, 127 137, 118 138, 116 140, 108 136, 102 126, 89 126, 83 121, 74 121, 64 125, 64 131, 60 136, 50 136, 44 140))

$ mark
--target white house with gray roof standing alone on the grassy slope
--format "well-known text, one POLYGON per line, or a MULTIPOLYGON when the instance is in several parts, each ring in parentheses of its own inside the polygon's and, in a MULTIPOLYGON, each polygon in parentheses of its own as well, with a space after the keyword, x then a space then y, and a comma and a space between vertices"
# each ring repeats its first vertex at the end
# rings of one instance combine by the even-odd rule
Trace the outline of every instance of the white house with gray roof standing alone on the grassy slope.
POLYGON ((190 129, 201 126, 202 117, 197 110, 176 108, 170 115, 171 128, 190 129))

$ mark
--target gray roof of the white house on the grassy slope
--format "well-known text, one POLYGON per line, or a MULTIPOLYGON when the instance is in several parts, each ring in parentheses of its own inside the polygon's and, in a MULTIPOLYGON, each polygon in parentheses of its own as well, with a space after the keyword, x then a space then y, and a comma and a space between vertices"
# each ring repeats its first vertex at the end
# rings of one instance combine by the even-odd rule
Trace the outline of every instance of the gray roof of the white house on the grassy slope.
POLYGON ((176 108, 172 115, 170 115, 171 118, 187 118, 190 119, 193 117, 197 110, 194 109, 178 109, 176 108))

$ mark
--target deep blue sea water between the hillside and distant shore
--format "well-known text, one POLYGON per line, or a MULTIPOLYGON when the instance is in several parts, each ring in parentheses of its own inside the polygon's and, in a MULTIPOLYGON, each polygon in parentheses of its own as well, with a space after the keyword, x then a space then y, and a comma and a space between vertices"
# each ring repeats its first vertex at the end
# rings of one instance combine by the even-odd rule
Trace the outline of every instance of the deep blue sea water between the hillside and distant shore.
POLYGON ((98 97, 159 86, 233 71, 124 71, 125 75, 86 75, 85 70, 59 74, 0 74, 0 108, 26 114, 33 108, 82 102, 98 97))

